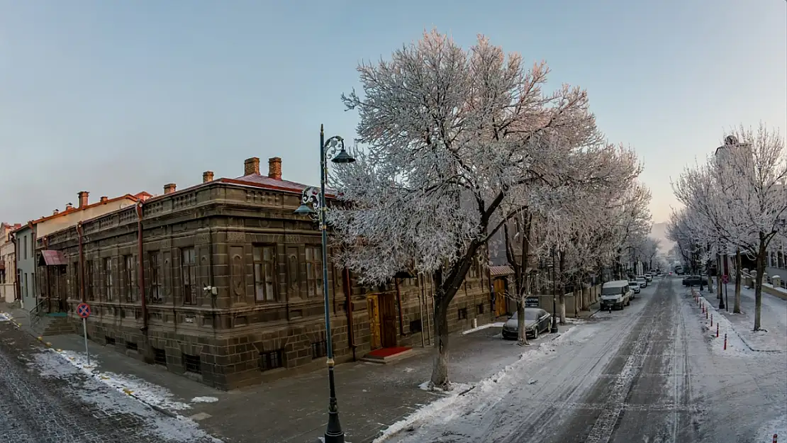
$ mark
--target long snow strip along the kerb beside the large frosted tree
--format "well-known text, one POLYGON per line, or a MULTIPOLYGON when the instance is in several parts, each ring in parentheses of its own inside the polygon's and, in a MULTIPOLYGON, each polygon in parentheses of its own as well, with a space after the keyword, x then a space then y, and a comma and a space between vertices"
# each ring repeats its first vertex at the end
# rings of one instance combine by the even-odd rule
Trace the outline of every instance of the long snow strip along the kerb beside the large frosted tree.
MULTIPOLYGON (((497 374, 488 378, 484 378, 475 385, 454 383, 452 389, 446 393, 445 397, 442 397, 437 401, 419 408, 416 412, 413 412, 411 415, 405 417, 405 419, 401 419, 400 421, 393 423, 391 426, 388 426, 388 428, 383 431, 379 437, 375 438, 373 443, 381 443, 382 441, 386 441, 388 438, 399 434, 402 430, 408 430, 413 426, 416 426, 416 424, 419 422, 434 419, 438 416, 441 419, 450 419, 452 416, 459 415, 462 413, 462 410, 461 408, 455 407, 455 405, 456 401, 464 394, 469 393, 470 395, 481 396, 484 393, 488 393, 490 390, 495 389, 497 384, 500 382, 516 382, 516 380, 511 379, 513 378, 512 375, 516 375, 517 373, 521 372, 520 369, 522 369, 524 364, 530 363, 531 360, 537 360, 541 356, 554 353, 557 349, 557 345, 569 342, 569 339, 576 335, 577 329, 578 328, 576 327, 569 327, 569 329, 567 329, 566 332, 563 332, 563 334, 558 335, 556 338, 550 341, 541 343, 538 345, 538 347, 534 347, 534 349, 522 353, 519 355, 519 360, 517 360, 514 364, 509 364, 501 371, 497 372, 497 374)), ((530 384, 535 382, 538 382, 538 380, 530 379, 530 381, 528 381, 530 384)), ((419 385, 419 388, 429 389, 428 386, 429 382, 423 382, 419 385)))

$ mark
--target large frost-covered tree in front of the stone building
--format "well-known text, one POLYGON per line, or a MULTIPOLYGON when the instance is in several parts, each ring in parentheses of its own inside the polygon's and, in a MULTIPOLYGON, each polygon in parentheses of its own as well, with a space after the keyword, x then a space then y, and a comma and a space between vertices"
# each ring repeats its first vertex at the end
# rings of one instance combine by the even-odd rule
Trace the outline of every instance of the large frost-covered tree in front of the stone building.
POLYGON ((580 153, 621 153, 601 140, 584 90, 542 90, 544 63, 528 70, 484 37, 463 50, 432 31, 358 72, 363 93, 342 99, 360 114, 366 147, 334 175, 345 201, 328 216, 337 258, 361 282, 402 270, 433 276, 431 384, 446 388, 446 314, 482 246, 570 186, 619 178, 604 167, 578 173, 580 153))

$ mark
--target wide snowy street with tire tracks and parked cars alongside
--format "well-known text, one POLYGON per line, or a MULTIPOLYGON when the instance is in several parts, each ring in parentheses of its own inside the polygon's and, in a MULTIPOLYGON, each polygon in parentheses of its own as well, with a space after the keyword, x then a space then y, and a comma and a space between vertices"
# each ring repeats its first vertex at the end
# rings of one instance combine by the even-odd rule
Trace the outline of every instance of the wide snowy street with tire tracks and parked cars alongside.
POLYGON ((785 354, 724 351, 678 279, 654 283, 392 441, 770 442, 787 418, 785 354))

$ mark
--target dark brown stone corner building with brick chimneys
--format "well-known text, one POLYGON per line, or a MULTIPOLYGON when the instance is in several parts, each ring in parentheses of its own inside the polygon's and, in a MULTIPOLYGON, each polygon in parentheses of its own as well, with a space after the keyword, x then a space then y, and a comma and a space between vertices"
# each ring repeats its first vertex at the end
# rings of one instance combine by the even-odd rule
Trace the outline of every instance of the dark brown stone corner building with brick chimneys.
MULTIPOLYGON (((39 255, 65 264, 70 318, 86 301, 91 340, 219 389, 324 367, 320 231, 293 213, 305 186, 282 179, 279 157, 268 167, 261 175, 253 157, 236 179, 205 172, 196 186, 170 183, 164 194, 40 238, 39 255)), ((427 279, 405 275, 371 290, 330 269, 337 363, 427 343, 427 279)), ((480 274, 475 268, 457 295, 452 330, 490 320, 480 274)))

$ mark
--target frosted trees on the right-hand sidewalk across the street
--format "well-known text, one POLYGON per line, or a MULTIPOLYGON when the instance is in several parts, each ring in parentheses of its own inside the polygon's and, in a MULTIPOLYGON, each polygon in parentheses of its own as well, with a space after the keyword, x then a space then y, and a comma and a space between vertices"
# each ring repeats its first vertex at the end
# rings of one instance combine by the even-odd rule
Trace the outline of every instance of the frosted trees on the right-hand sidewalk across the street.
POLYGON ((673 190, 685 207, 673 212, 667 234, 685 263, 696 272, 715 259, 721 274, 722 257, 735 257, 735 313, 741 312, 741 254, 755 260, 759 330, 767 251, 787 238, 785 139, 765 124, 738 127, 703 164, 685 168, 673 190))

